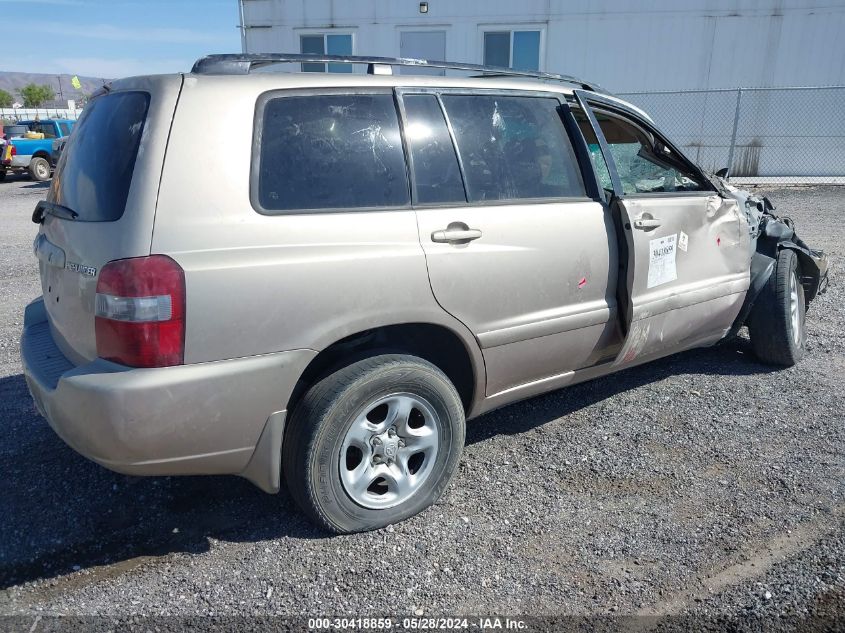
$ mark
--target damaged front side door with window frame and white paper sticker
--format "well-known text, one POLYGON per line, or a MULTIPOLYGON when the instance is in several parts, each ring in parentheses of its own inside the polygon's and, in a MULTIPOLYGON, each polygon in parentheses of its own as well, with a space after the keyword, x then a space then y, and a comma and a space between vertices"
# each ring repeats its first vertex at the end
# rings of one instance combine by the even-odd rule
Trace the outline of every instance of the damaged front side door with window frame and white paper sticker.
POLYGON ((630 365, 722 338, 749 286, 748 227, 652 125, 578 92, 579 125, 609 182, 624 240, 621 302, 630 365))

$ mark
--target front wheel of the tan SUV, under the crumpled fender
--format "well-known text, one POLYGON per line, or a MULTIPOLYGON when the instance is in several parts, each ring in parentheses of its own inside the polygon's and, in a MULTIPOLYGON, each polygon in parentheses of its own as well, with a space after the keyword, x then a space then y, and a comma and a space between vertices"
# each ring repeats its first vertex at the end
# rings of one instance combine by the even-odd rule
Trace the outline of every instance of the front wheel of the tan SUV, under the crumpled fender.
POLYGON ((754 303, 748 331, 754 353, 764 363, 791 367, 804 357, 807 303, 795 251, 785 248, 754 303))

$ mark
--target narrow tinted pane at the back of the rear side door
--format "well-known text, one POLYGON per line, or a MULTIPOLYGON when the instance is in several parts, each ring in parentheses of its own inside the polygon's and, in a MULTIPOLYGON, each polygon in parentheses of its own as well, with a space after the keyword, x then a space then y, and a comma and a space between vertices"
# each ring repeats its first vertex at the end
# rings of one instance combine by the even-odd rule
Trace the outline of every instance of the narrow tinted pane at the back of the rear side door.
POLYGON ((403 102, 417 202, 466 202, 455 147, 437 97, 406 95, 403 102))

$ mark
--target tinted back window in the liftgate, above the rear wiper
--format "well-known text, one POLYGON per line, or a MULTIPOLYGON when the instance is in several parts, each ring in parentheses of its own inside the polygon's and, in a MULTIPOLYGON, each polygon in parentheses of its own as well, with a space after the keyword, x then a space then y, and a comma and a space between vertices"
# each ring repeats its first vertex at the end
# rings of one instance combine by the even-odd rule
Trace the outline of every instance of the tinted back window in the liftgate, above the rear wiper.
POLYGON ((93 99, 65 145, 48 199, 76 211, 77 221, 119 219, 149 104, 146 92, 116 92, 93 99))

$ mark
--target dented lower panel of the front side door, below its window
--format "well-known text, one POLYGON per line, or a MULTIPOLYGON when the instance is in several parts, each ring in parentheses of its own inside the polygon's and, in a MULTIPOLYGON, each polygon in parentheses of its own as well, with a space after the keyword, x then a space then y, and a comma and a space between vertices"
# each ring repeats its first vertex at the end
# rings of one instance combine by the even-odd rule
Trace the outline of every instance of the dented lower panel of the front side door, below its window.
POLYGON ((724 337, 749 283, 749 239, 736 202, 689 195, 617 204, 630 253, 629 336, 617 365, 724 337))

